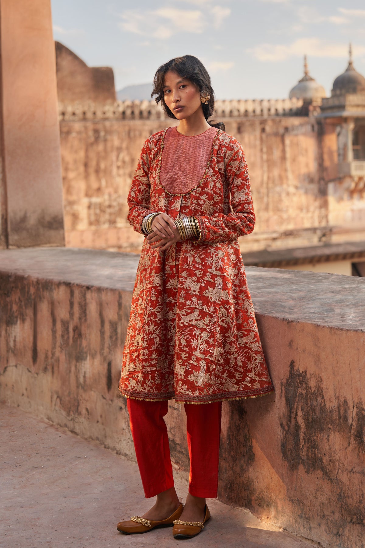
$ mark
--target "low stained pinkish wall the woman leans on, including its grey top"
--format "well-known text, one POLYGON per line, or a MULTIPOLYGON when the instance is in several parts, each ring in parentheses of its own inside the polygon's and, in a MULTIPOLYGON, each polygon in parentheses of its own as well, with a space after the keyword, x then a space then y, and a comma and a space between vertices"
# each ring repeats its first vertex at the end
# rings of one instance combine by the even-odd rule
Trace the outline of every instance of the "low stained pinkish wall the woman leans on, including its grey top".
MULTIPOLYGON (((138 257, 0 252, 0 399, 134 458, 118 393, 138 257)), ((247 267, 275 393, 223 403, 219 498, 327 548, 364 548, 365 286, 247 267)), ((188 467, 183 406, 167 415, 188 467)))

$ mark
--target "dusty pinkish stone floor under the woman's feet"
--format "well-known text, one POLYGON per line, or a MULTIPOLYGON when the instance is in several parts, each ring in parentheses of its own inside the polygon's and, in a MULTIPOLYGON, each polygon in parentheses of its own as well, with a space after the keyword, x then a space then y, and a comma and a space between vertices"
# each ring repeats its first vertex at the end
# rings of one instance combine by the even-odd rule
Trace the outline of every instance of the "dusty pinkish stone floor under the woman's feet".
MULTIPOLYGON (((105 548, 179 545, 171 528, 120 534, 116 525, 141 515, 137 465, 20 409, 0 406, 0 546, 105 548)), ((187 493, 187 475, 176 473, 187 493)), ((208 500, 212 518, 189 546, 306 548, 307 541, 273 530, 250 512, 208 500)))

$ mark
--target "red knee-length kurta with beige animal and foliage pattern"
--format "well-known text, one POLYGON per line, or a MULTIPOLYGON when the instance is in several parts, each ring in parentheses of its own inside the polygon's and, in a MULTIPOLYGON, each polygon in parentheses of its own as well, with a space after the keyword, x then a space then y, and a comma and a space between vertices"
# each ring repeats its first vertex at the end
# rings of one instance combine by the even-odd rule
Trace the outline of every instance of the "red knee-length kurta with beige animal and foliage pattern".
MULTIPOLYGON (((188 178, 178 192, 166 166, 166 187, 160 180, 166 133, 167 139, 177 137, 172 131, 144 142, 128 196, 128 221, 142 233, 149 213, 165 212, 173 219, 194 215, 200 237, 165 251, 144 240, 119 390, 127 397, 188 403, 263 395, 274 388, 237 241, 252 232, 255 221, 244 152, 239 141, 216 128, 181 136, 193 139, 199 151, 215 132, 201 179, 193 187, 188 178)), ((192 142, 185 144, 191 148, 192 142)), ((201 154, 199 159, 191 158, 197 178, 201 154)))

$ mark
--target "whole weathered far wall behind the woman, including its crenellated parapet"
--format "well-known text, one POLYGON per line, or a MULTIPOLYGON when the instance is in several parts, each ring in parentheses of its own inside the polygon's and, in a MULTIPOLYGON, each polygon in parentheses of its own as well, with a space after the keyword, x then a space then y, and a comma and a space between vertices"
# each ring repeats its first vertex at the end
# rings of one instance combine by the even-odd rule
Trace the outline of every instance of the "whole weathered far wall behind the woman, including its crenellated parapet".
MULTIPOLYGON (((143 141, 177 125, 154 101, 61 103, 68 246, 138 251, 126 197, 143 141)), ((242 252, 297 248, 365 236, 364 178, 338 178, 336 121, 300 116, 299 100, 216 101, 243 145, 256 228, 242 252)))

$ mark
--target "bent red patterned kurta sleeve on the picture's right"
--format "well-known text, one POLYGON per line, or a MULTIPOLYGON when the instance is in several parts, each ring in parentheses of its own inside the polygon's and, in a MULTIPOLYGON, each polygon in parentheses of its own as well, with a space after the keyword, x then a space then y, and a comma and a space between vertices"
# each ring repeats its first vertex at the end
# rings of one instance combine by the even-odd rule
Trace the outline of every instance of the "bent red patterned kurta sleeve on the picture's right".
POLYGON ((250 234, 256 220, 248 176, 245 153, 239 141, 232 141, 231 150, 225 153, 225 177, 230 194, 228 215, 195 215, 201 236, 198 243, 227 242, 233 238, 250 234))

